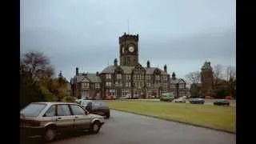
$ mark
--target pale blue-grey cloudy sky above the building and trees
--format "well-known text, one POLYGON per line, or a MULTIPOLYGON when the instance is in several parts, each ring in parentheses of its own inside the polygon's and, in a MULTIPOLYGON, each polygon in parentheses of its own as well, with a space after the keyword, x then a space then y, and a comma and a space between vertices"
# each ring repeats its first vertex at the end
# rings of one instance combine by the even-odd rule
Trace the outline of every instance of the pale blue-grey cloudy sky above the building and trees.
POLYGON ((40 51, 70 79, 113 64, 118 37, 139 35, 139 62, 184 78, 209 60, 235 66, 234 0, 22 0, 21 54, 40 51), (162 68, 163 69, 163 68, 162 68))

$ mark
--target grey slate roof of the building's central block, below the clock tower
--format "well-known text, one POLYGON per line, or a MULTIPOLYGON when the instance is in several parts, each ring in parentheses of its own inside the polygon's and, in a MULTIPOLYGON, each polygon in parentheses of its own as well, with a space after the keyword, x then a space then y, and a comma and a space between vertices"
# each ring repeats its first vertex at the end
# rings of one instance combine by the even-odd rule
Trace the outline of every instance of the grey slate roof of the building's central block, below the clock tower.
MULTIPOLYGON (((123 70, 123 74, 131 74, 132 70, 134 70, 134 66, 120 66, 120 67, 123 70)), ((150 68, 143 67, 143 68, 146 70, 146 74, 153 74, 154 70, 157 69, 157 67, 150 67, 150 68)), ((102 70, 101 74, 103 73, 113 74, 115 69, 116 69, 116 66, 114 65, 107 66, 104 70, 102 70)), ((161 70, 161 69, 159 70, 161 71, 161 74, 167 75, 167 73, 164 70, 161 70)))

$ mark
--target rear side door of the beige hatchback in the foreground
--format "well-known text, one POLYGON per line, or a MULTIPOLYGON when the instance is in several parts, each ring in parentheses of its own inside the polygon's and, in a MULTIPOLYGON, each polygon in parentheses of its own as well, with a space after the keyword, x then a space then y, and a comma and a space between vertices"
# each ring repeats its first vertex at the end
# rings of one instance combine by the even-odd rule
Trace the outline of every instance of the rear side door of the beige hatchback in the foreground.
POLYGON ((74 129, 74 117, 71 114, 68 104, 57 105, 56 125, 59 131, 67 131, 74 129))

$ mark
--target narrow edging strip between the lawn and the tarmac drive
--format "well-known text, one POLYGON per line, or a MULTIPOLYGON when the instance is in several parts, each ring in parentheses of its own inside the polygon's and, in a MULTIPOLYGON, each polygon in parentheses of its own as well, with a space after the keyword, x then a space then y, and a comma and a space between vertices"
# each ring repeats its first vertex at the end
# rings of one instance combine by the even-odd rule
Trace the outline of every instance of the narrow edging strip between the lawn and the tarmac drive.
POLYGON ((158 119, 162 119, 162 120, 169 121, 169 122, 178 122, 178 123, 182 123, 182 124, 186 124, 186 125, 190 125, 190 126, 198 126, 198 127, 203 127, 206 129, 218 130, 218 131, 222 131, 222 132, 226 132, 226 133, 230 133, 230 134, 236 134, 235 131, 223 130, 223 129, 213 128, 210 126, 202 126, 202 125, 198 125, 198 124, 194 124, 194 123, 190 123, 190 122, 182 122, 182 121, 178 121, 178 120, 170 119, 170 118, 160 118, 158 116, 153 116, 153 115, 148 115, 148 114, 139 114, 137 112, 133 112, 133 111, 129 111, 129 110, 119 110, 119 109, 114 109, 114 108, 110 108, 110 109, 130 113, 130 114, 138 114, 138 115, 142 115, 142 116, 146 116, 146 117, 150 117, 150 118, 158 118, 158 119))

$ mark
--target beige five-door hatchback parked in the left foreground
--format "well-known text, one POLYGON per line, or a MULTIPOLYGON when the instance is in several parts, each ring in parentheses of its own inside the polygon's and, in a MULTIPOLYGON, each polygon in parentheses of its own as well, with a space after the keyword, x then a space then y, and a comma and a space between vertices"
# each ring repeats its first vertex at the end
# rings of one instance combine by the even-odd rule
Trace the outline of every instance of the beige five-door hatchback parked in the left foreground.
POLYGON ((90 130, 98 133, 104 124, 100 115, 89 114, 76 103, 32 102, 20 111, 21 136, 39 135, 50 142, 57 133, 71 130, 90 130))

